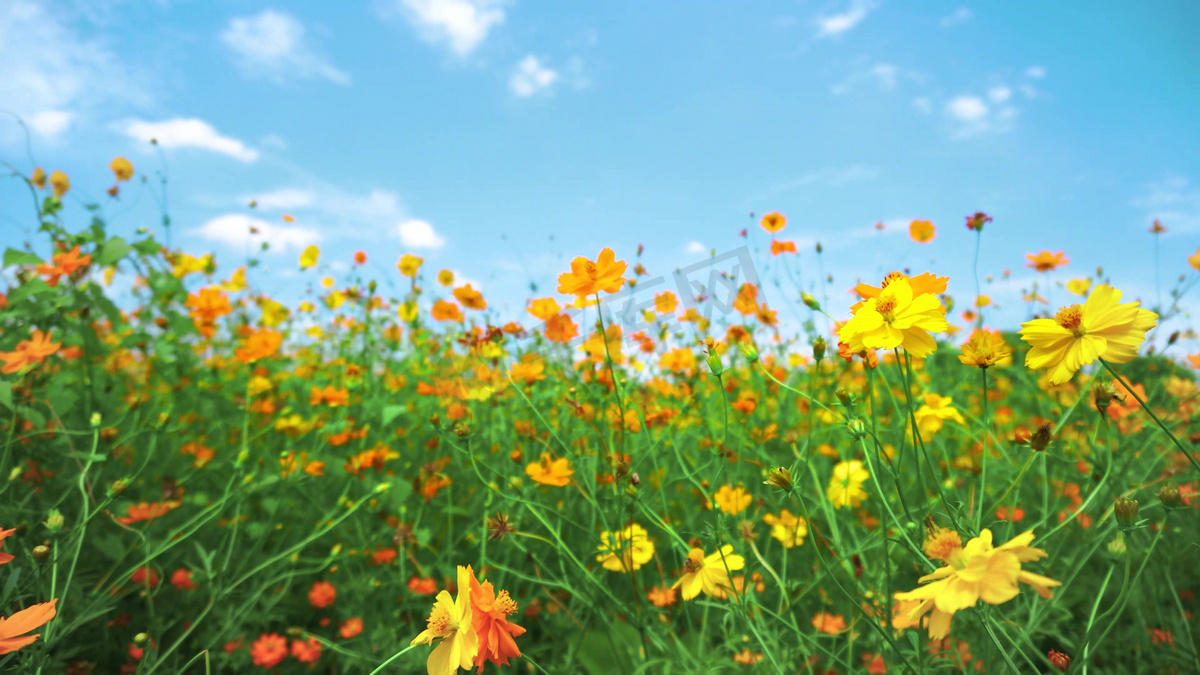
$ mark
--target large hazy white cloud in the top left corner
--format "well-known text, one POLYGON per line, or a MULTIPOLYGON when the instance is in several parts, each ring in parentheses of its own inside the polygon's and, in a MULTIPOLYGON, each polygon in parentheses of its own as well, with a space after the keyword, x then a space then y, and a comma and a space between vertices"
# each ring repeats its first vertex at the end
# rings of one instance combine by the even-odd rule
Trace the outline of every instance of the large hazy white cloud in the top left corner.
MULTIPOLYGON (((101 41, 86 36, 56 4, 0 2, 0 108, 20 117, 37 137, 53 141, 94 112, 112 115, 148 104, 140 77, 101 41)), ((0 118, 0 143, 20 141, 0 118)))

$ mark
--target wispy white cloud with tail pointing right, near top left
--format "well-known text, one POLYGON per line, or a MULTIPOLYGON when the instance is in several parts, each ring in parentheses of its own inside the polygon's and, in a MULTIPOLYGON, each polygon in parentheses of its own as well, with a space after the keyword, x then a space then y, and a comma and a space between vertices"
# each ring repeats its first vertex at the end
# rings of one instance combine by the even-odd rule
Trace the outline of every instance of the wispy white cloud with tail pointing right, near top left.
POLYGON ((221 42, 233 53, 246 77, 276 84, 290 79, 328 79, 349 84, 350 76, 335 67, 312 46, 299 19, 276 10, 229 20, 221 42))

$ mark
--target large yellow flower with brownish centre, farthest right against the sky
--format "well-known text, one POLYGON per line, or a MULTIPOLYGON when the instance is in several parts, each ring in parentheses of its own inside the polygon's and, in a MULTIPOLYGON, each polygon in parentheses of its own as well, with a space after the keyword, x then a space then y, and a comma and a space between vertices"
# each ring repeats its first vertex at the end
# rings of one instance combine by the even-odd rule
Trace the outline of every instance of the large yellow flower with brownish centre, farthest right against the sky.
POLYGON ((1021 324, 1021 340, 1030 344, 1025 365, 1046 369, 1051 384, 1070 380, 1080 368, 1103 358, 1128 363, 1138 356, 1146 331, 1158 323, 1158 315, 1121 304, 1121 291, 1103 283, 1087 301, 1058 310, 1054 318, 1036 318, 1021 324))

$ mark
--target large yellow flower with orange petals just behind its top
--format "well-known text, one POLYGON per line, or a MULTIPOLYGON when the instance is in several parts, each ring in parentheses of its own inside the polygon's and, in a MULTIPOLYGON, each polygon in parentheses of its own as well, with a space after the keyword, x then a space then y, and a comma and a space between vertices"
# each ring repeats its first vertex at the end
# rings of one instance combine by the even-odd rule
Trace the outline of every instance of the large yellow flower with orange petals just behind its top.
POLYGON ((852 307, 854 316, 838 329, 841 342, 852 353, 864 350, 904 347, 917 357, 925 357, 937 348, 930 333, 943 333, 946 307, 936 295, 913 294, 907 277, 889 277, 875 298, 852 307))

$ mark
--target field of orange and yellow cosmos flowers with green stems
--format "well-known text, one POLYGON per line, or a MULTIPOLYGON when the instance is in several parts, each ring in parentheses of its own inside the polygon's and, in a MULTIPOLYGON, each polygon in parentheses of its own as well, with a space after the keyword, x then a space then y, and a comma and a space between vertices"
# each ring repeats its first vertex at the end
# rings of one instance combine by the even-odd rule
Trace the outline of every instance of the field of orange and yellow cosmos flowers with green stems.
POLYGON ((905 269, 773 288, 786 329, 748 274, 797 250, 772 213, 742 276, 578 251, 502 322, 413 253, 380 283, 308 246, 269 298, 18 178, 0 668, 1200 673, 1200 251, 1164 306, 1098 270, 1001 330, 978 277, 905 269))

